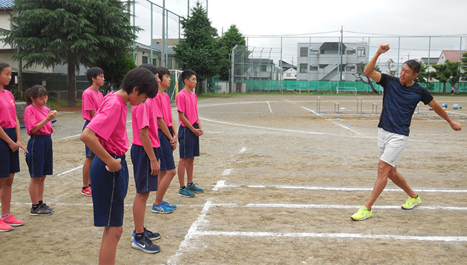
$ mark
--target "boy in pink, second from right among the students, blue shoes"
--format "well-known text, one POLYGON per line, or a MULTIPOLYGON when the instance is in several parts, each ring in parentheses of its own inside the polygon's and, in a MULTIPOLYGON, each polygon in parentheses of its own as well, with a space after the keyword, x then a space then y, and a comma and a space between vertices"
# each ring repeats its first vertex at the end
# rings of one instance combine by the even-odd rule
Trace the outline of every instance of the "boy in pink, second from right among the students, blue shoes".
POLYGON ((161 142, 161 172, 159 172, 156 200, 151 211, 156 214, 170 214, 176 209, 176 205, 170 205, 164 201, 163 196, 176 174, 173 151, 176 148, 177 134, 170 98, 166 93, 166 89, 170 87, 170 71, 166 67, 159 67, 158 70, 161 83, 159 84, 159 93, 154 100, 162 114, 162 117, 157 117, 157 125, 159 126, 157 131, 161 142))

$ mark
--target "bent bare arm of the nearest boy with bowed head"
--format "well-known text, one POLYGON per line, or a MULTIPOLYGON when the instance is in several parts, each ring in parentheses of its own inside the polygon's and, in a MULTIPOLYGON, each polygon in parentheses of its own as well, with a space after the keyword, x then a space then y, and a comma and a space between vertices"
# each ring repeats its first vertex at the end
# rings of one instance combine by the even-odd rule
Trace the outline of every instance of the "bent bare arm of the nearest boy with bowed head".
POLYGON ((86 144, 93 153, 100 158, 100 160, 106 163, 106 169, 109 172, 115 172, 122 169, 122 159, 114 159, 111 155, 102 147, 98 137, 95 136, 95 133, 89 129, 84 128, 80 135, 80 140, 86 144))

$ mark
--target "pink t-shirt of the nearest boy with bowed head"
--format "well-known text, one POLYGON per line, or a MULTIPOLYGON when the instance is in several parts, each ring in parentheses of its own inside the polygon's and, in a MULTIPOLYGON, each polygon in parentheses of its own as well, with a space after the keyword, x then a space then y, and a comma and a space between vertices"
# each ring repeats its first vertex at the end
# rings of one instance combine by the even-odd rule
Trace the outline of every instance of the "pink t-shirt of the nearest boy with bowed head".
POLYGON ((128 151, 127 112, 122 97, 116 93, 109 93, 86 126, 98 136, 100 144, 109 154, 123 155, 128 151))

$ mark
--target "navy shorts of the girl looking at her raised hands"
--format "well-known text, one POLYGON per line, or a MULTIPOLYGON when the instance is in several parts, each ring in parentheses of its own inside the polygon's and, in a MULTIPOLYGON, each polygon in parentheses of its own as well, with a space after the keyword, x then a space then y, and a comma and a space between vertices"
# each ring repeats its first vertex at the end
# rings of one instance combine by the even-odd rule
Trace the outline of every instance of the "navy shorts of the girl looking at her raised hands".
POLYGON ((31 177, 42 178, 54 174, 54 154, 50 135, 31 135, 27 141, 26 163, 31 177))

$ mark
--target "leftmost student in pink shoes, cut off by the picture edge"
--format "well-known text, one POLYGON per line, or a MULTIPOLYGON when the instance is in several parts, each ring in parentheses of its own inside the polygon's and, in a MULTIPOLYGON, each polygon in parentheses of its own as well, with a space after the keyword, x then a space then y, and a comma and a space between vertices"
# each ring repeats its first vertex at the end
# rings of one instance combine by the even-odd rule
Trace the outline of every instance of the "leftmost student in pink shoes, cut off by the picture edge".
POLYGON ((23 224, 10 213, 14 173, 19 172, 19 148, 27 152, 21 143, 14 96, 3 88, 11 79, 10 65, 0 61, 0 232, 11 231, 23 224))

